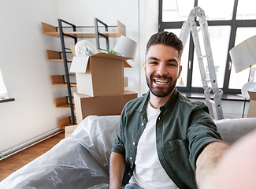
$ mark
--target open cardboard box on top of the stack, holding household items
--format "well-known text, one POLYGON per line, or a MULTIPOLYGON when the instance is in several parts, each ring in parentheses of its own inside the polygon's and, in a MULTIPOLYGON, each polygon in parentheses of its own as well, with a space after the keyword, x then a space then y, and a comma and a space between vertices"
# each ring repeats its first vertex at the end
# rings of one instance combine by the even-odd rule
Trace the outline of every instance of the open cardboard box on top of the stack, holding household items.
POLYGON ((104 53, 73 57, 69 71, 76 72, 77 92, 93 97, 123 94, 124 68, 132 68, 128 59, 104 53))

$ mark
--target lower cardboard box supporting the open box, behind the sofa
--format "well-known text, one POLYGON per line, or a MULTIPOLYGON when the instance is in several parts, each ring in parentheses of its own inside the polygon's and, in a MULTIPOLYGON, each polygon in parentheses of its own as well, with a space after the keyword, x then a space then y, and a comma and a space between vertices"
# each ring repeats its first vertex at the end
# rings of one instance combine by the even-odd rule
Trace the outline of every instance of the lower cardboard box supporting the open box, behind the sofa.
POLYGON ((89 115, 121 115, 124 105, 137 97, 138 94, 132 91, 124 91, 124 94, 121 95, 98 97, 74 93, 77 124, 80 124, 80 122, 89 115))

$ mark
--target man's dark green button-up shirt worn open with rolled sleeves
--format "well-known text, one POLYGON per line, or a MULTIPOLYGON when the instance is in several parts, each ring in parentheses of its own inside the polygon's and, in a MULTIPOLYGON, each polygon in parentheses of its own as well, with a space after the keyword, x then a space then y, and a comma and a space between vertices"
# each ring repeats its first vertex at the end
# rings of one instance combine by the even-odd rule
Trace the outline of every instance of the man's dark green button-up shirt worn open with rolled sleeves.
MULTIPOLYGON (((124 155, 123 184, 128 183, 132 176, 137 144, 147 127, 149 94, 148 91, 147 95, 128 102, 121 114, 121 127, 112 151, 124 155)), ((198 154, 207 144, 221 139, 208 114, 208 107, 203 102, 191 102, 175 90, 160 111, 156 120, 159 161, 177 187, 196 188, 195 162, 198 154)))

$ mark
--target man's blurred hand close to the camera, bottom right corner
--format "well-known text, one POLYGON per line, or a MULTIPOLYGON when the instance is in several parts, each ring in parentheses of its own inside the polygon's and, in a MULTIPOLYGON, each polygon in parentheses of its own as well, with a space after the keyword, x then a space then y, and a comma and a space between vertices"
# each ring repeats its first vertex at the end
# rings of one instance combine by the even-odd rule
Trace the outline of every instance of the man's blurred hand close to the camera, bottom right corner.
POLYGON ((256 188, 256 130, 232 144, 216 169, 215 188, 256 188))

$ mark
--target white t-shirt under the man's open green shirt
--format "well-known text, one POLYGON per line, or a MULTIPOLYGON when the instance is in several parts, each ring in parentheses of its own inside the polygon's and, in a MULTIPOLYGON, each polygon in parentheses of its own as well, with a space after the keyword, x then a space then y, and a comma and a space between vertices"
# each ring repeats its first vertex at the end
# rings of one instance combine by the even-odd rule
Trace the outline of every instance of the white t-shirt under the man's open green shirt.
POLYGON ((139 187, 151 189, 176 189, 176 184, 169 178, 158 159, 156 145, 156 120, 160 109, 154 109, 150 102, 147 104, 147 125, 140 136, 137 146, 135 169, 130 183, 139 187))

